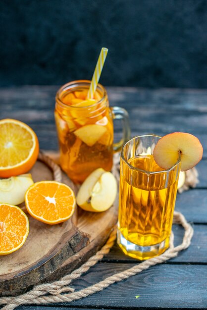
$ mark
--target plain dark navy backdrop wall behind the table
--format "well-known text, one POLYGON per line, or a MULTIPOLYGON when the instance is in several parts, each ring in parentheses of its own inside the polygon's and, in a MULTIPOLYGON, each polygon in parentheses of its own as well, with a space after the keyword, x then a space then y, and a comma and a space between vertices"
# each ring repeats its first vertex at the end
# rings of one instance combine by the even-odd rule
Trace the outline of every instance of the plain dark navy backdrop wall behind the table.
POLYGON ((207 0, 1 0, 0 86, 207 87, 207 0))

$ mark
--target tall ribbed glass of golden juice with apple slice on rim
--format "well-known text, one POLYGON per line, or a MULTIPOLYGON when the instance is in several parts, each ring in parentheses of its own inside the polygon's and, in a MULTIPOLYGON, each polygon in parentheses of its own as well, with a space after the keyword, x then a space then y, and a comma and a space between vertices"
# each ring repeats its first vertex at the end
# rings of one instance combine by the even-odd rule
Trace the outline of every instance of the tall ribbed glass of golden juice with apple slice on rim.
POLYGON ((126 255, 140 260, 169 247, 180 158, 170 169, 160 168, 153 157, 160 138, 132 138, 120 158, 117 243, 126 255))

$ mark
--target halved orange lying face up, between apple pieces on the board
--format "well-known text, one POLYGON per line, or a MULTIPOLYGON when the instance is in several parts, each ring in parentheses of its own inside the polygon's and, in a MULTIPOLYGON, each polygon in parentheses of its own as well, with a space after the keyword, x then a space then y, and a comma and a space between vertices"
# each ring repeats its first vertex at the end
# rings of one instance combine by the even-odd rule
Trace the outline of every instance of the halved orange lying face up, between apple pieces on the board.
POLYGON ((58 224, 70 218, 75 210, 75 194, 56 181, 36 182, 25 193, 29 214, 46 224, 58 224))

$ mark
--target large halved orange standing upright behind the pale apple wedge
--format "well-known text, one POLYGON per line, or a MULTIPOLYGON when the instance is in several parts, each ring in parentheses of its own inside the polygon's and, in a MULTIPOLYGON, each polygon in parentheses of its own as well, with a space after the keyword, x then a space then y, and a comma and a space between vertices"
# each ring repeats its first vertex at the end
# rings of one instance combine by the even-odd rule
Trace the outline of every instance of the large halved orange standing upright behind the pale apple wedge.
POLYGON ((28 172, 38 153, 37 136, 28 125, 15 119, 0 120, 0 177, 28 172))

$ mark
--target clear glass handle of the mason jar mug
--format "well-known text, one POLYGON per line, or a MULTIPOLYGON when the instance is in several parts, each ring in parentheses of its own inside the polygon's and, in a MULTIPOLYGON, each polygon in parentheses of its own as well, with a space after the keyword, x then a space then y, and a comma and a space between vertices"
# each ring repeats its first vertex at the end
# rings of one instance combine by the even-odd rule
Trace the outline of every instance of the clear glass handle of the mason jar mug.
POLYGON ((121 119, 122 120, 122 132, 123 136, 121 140, 117 143, 113 144, 113 152, 121 151, 122 145, 127 142, 131 138, 131 130, 129 126, 129 114, 128 112, 119 106, 110 107, 113 119, 121 119))

